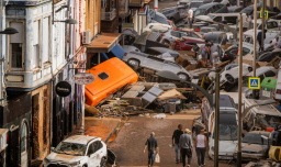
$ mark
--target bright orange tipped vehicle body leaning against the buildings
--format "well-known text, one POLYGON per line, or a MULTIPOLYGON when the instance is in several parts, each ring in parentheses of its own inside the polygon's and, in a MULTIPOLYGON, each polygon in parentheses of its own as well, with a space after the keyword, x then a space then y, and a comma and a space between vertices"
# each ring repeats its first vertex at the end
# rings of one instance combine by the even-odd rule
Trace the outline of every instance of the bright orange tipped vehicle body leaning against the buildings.
POLYGON ((86 103, 95 107, 111 94, 125 89, 138 79, 137 74, 121 59, 114 57, 87 70, 95 80, 85 86, 86 103))

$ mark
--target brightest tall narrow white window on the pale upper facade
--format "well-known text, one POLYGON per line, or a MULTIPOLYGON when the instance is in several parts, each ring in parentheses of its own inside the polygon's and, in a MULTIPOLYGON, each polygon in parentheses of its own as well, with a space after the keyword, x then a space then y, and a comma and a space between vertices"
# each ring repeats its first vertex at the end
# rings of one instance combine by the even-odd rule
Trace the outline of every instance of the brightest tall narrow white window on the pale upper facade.
POLYGON ((42 63, 46 63, 49 60, 50 52, 49 52, 49 30, 50 30, 50 19, 49 16, 43 19, 43 40, 44 43, 42 47, 42 63))

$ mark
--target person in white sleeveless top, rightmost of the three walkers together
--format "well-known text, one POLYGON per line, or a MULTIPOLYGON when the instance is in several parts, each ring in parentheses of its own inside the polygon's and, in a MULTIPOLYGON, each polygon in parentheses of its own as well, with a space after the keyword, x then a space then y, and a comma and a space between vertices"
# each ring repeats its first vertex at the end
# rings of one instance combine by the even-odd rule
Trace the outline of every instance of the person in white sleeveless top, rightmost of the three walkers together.
POLYGON ((198 166, 205 166, 205 153, 206 153, 206 136, 204 135, 204 130, 200 131, 200 134, 195 137, 196 155, 198 155, 198 166))

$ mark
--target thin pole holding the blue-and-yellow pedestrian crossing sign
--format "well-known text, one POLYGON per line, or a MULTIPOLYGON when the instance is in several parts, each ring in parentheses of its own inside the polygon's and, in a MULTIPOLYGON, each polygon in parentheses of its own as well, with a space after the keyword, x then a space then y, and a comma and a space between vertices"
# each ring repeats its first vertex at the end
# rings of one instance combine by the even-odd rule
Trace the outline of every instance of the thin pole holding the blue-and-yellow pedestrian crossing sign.
MULTIPOLYGON (((257 0, 255 0, 254 5, 254 74, 252 77, 256 77, 256 56, 257 56, 257 0)), ((252 89, 252 97, 256 98, 256 89, 252 89)))

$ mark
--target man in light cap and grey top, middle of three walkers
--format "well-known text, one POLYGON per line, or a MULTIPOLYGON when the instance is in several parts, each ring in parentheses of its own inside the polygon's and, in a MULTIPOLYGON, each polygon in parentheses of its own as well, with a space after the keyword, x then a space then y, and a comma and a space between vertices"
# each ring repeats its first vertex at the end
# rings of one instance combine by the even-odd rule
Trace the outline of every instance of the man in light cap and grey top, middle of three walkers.
POLYGON ((191 140, 191 135, 188 133, 191 133, 191 131, 189 129, 186 129, 184 134, 180 136, 180 143, 179 143, 183 167, 186 167, 186 156, 188 156, 188 167, 190 167, 192 152, 193 152, 193 143, 191 140))

